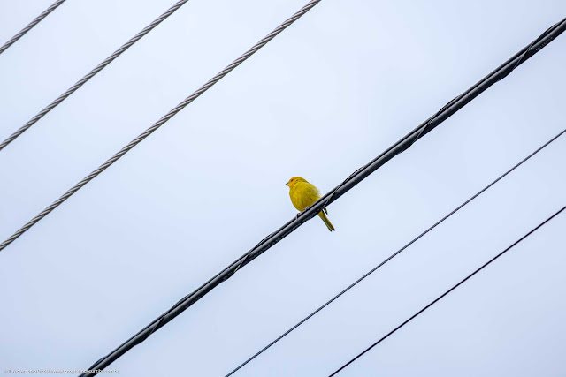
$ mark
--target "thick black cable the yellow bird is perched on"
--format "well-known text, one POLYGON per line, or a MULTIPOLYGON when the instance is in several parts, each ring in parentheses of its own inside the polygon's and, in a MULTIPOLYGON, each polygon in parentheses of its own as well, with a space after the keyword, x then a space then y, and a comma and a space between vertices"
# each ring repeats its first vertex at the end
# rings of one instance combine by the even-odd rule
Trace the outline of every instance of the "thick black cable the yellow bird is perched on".
MULTIPOLYGON (((409 132, 404 138, 397 141, 392 147, 389 147, 381 155, 373 159, 370 163, 364 165, 362 168, 356 170, 350 177, 348 177, 340 185, 336 186, 333 191, 328 192, 321 199, 311 207, 305 209, 297 217, 283 225, 279 230, 274 231, 272 234, 265 237, 256 246, 254 246, 248 253, 243 254, 239 259, 233 261, 227 268, 224 268, 217 275, 212 277, 208 282, 204 283, 197 290, 189 293, 184 298, 181 298, 175 305, 172 306, 167 312, 163 313, 156 320, 149 323, 148 326, 142 328, 137 334, 122 343, 117 349, 111 351, 108 355, 100 358, 93 366, 88 369, 103 369, 109 366, 114 360, 118 359, 127 351, 131 350, 136 344, 142 343, 154 331, 162 328, 166 323, 177 317, 180 313, 187 310, 188 307, 194 305, 196 301, 203 298, 210 290, 213 290, 218 284, 230 278, 238 269, 246 266, 251 260, 256 259, 259 255, 266 250, 277 244, 281 239, 287 237, 288 234, 293 232, 304 222, 307 222, 312 217, 318 214, 324 207, 331 204, 334 200, 338 200, 340 196, 348 192, 352 187, 360 183, 365 177, 368 177, 372 172, 378 170, 379 167, 391 160, 395 155, 399 155, 408 147, 410 147, 417 139, 422 138, 428 132, 431 132, 436 126, 444 122, 448 117, 452 116, 456 111, 462 109, 468 102, 473 100, 478 94, 484 92, 488 87, 503 79, 510 72, 512 72, 520 64, 523 64, 527 59, 539 52, 550 41, 554 40, 556 36, 562 34, 566 29, 566 19, 551 26, 547 31, 539 36, 535 41, 532 41, 527 47, 519 51, 514 57, 511 57, 507 62, 502 64, 495 71, 491 72, 484 79, 480 80, 476 85, 468 89, 465 93, 459 95, 454 100, 448 102, 446 106, 440 109, 434 116, 430 117, 423 124, 420 124, 415 130, 409 132)), ((82 376, 94 375, 92 373, 84 373, 82 376)))

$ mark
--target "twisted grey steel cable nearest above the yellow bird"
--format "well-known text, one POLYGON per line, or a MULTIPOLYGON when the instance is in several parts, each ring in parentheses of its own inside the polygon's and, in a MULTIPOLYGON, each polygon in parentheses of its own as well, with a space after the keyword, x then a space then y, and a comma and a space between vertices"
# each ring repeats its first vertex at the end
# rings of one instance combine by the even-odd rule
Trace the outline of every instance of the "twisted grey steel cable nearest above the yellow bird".
POLYGON ((310 9, 312 9, 320 1, 321 0, 311 0, 308 4, 303 6, 300 11, 297 11, 296 13, 294 13, 294 15, 291 18, 287 19, 283 24, 279 25, 275 30, 273 30, 272 33, 267 34, 267 36, 265 36, 264 39, 262 39, 261 41, 258 41, 256 43, 256 45, 254 45, 251 49, 246 51, 243 55, 241 55, 241 57, 238 57, 236 60, 234 60, 232 64, 226 66, 226 68, 224 70, 218 72, 218 74, 216 76, 214 76, 212 79, 210 79, 206 84, 204 84, 203 87, 200 87, 198 90, 195 91, 195 93, 189 95, 183 102, 180 102, 179 105, 177 105, 174 109, 172 109, 167 114, 165 114, 164 117, 161 117, 161 119, 159 119, 155 124, 153 124, 151 127, 149 127, 145 132, 143 132, 137 138, 132 140, 128 145, 126 145, 126 147, 123 147, 122 149, 120 149, 119 152, 116 155, 113 155, 108 161, 106 161, 102 165, 100 165, 100 167, 98 167, 98 169, 94 170, 87 177, 84 177, 78 184, 74 185, 69 191, 65 192, 65 194, 62 195, 59 199, 55 200, 53 202, 53 204, 51 204, 49 207, 43 209, 42 212, 39 215, 36 215, 32 220, 27 222, 27 224, 25 224, 18 231, 16 231, 10 238, 6 239, 2 244, 0 244, 0 251, 4 250, 4 248, 7 245, 10 245, 14 240, 19 238, 19 236, 21 236, 24 232, 26 232, 28 229, 30 229, 32 226, 34 226, 35 223, 42 220, 43 217, 45 217, 46 215, 49 215, 51 211, 53 211, 55 208, 59 207, 65 200, 69 199, 71 197, 71 195, 73 195, 73 193, 79 191, 82 186, 87 185, 88 182, 90 182, 93 178, 97 177, 104 170, 108 169, 108 167, 110 167, 112 163, 117 162, 120 157, 122 157, 123 155, 126 155, 127 152, 129 152, 132 148, 134 148, 136 145, 138 145, 140 142, 142 142, 142 140, 147 138, 151 133, 155 132, 159 127, 161 127, 163 124, 165 124, 169 119, 174 117, 177 113, 180 112, 180 110, 184 109, 189 103, 195 101, 196 98, 198 98, 201 94, 206 92, 210 87, 212 87, 214 84, 216 84, 220 79, 225 77, 228 73, 232 72, 234 68, 236 68, 238 65, 240 65, 244 61, 246 61, 249 57, 254 55, 257 50, 264 47, 269 41, 272 41, 273 38, 275 38, 279 33, 281 33, 283 30, 285 30, 288 26, 291 26, 294 23, 294 21, 296 21, 297 19, 300 19, 303 14, 305 14, 307 11, 310 11, 310 9))

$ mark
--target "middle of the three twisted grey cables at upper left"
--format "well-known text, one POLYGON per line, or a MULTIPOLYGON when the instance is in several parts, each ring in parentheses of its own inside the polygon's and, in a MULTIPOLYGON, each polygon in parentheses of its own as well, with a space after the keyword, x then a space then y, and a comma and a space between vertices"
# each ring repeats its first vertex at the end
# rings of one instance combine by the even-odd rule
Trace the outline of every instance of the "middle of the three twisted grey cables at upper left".
POLYGON ((149 34, 149 32, 151 30, 153 30, 157 25, 161 24, 165 19, 167 19, 169 16, 171 16, 175 11, 179 10, 179 8, 182 5, 184 5, 185 3, 187 3, 188 1, 189 0, 180 0, 179 2, 174 4, 171 8, 169 8, 167 11, 165 11, 161 16, 159 16, 152 23, 150 23, 148 26, 146 26, 140 33, 135 34, 132 39, 130 39, 124 45, 122 45, 122 47, 120 47, 119 49, 114 51, 114 53, 110 57, 107 57, 101 64, 96 65, 95 69, 88 72, 88 74, 86 76, 84 76, 82 79, 80 79, 79 81, 77 81, 73 85, 73 87, 68 88, 64 94, 59 95, 55 101, 51 102, 45 109, 42 109, 42 111, 40 111, 35 117, 33 117, 29 121, 27 121, 26 124, 19 127, 19 129, 16 132, 12 133, 8 139, 5 139, 0 144, 0 151, 2 149, 4 149, 4 147, 6 147, 8 144, 10 144, 13 140, 18 138, 19 135, 26 132, 29 127, 31 127, 32 125, 37 123, 37 121, 39 121, 42 117, 44 117, 52 109, 55 109, 59 103, 65 101, 65 99, 69 95, 73 94, 80 87, 82 87, 84 84, 86 84, 89 79, 92 79, 96 75, 96 73, 101 72, 108 64, 111 64, 111 62, 114 59, 116 59, 123 52, 125 52, 126 49, 129 49, 130 47, 132 47, 134 45, 134 43, 136 41, 141 40, 142 37, 144 37, 146 34, 149 34))

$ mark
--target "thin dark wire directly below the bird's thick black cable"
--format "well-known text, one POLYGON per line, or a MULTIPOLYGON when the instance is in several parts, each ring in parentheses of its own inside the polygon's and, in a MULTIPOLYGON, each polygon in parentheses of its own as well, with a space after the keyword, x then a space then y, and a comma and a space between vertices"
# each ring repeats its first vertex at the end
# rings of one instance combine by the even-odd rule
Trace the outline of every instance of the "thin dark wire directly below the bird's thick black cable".
POLYGON ((445 215, 444 217, 442 217, 438 222, 435 222, 434 224, 432 224, 431 227, 429 227, 427 230, 424 230, 424 232, 422 232, 421 234, 419 234, 416 238, 413 238, 407 245, 402 246, 401 249, 397 250, 395 253, 391 254, 389 257, 386 258, 386 260, 383 260, 381 263, 379 263, 379 265, 377 265, 374 268, 371 268, 370 271, 368 271, 365 275, 363 275, 362 277, 360 277, 359 279, 356 280, 356 282, 351 283, 350 285, 348 285, 348 287, 344 290, 341 290, 340 293, 338 293, 336 296, 334 296, 333 298, 329 299, 328 301, 325 302, 324 305, 321 305, 320 307, 317 308, 317 310, 315 310, 314 312, 310 313, 309 315, 307 315, 305 318, 303 318, 302 320, 300 320, 297 324, 295 324, 292 328, 289 328, 286 332, 284 332, 283 334, 281 334, 278 338, 276 338, 275 340, 272 341, 272 343, 267 344, 264 348, 262 348, 260 351, 257 351, 256 354, 254 354, 252 357, 248 358, 246 361, 244 361, 243 363, 241 363, 240 366, 236 367, 235 369, 233 369, 232 372, 226 374, 226 377, 231 376, 233 373, 238 372, 238 370, 240 370, 243 366, 246 366, 250 361, 252 361, 254 358, 257 358, 259 355, 261 355, 262 353, 264 353, 264 351, 267 351, 269 348, 272 347, 272 345, 274 345, 275 343, 278 343, 281 339, 283 339, 285 336, 289 335, 295 328, 298 328, 299 326, 301 326, 304 322, 306 322, 307 320, 310 320, 312 317, 314 317, 318 312, 322 311, 323 309, 325 309, 326 306, 332 304, 337 298, 340 298, 340 296, 342 296, 344 293, 346 293, 348 290, 351 290, 352 288, 354 288, 358 283, 361 283, 363 281, 363 279, 365 279, 366 277, 368 277, 369 275, 373 274, 375 271, 377 271, 379 268, 381 268, 383 265, 385 265, 389 260, 393 260, 394 257, 396 257, 399 253, 402 253, 405 249, 407 249, 410 245, 413 245, 415 242, 417 242, 418 239, 422 238, 425 234, 427 234, 429 231, 433 230, 434 228, 436 228, 437 226, 440 225, 440 223, 446 221, 449 217, 451 217, 452 215, 455 215, 456 212, 458 212, 460 209, 462 209, 463 207, 465 207, 466 205, 468 205, 472 200, 475 200, 476 198, 478 198, 479 195, 481 195, 482 193, 486 192, 490 187, 492 187, 493 185, 497 184, 499 181, 501 181, 501 179, 503 179, 504 177, 507 177, 509 175, 509 173, 511 173, 513 170, 516 170, 519 166, 523 165, 524 162, 529 161, 534 155, 537 155, 541 150, 543 150, 544 148, 548 147, 552 142, 555 141, 555 139, 560 138, 564 133, 566 133, 566 129, 564 129, 562 132, 558 133, 554 138, 548 140, 545 144, 543 144, 541 147, 539 147, 537 150, 535 150, 534 152, 532 152, 531 155, 526 156, 523 160, 521 160, 521 162, 518 162, 515 166, 513 166, 511 169, 507 170, 505 173, 501 174, 500 177, 498 177, 497 179, 495 179, 491 184, 486 185, 486 187, 484 187, 483 189, 481 189, 479 192, 477 192, 476 194, 474 194, 473 196, 470 197, 470 199, 464 201, 460 206, 456 207, 452 212, 450 212, 449 214, 445 215))

